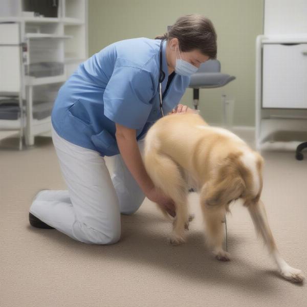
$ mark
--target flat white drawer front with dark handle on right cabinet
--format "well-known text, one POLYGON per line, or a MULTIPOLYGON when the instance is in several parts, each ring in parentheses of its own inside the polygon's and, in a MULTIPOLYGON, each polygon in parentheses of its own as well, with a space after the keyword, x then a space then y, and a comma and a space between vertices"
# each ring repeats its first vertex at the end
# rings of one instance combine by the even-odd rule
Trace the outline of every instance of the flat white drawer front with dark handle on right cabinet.
POLYGON ((265 44, 262 107, 307 108, 307 43, 265 44))

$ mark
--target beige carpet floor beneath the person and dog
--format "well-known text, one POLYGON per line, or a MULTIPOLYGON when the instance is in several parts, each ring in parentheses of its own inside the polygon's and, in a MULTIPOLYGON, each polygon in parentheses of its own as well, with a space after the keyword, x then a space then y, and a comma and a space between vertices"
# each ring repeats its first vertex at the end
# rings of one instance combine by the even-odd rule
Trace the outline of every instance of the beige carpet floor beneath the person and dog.
MULTIPOLYGON (((307 306, 306 283, 276 273, 243 207, 228 216, 230 262, 204 246, 197 195, 188 242, 166 242, 170 225, 149 201, 122 216, 119 243, 78 243, 56 230, 32 228, 28 209, 36 191, 63 189, 52 142, 18 151, 0 149, 0 306, 307 306)), ((283 257, 307 274, 307 155, 267 152, 262 200, 283 257)), ((110 161, 108 161, 110 162, 110 161)))

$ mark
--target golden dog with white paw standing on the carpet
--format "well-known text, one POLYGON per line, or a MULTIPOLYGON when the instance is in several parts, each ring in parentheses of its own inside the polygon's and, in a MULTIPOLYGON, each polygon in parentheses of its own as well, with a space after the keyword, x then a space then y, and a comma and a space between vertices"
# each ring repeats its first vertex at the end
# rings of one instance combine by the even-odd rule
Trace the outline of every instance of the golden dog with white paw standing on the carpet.
MULTIPOLYGON (((260 200, 263 159, 242 139, 226 129, 207 125, 197 114, 165 116, 147 133, 144 164, 153 183, 176 204, 171 244, 185 241, 192 179, 200 193, 207 243, 218 260, 229 260, 229 253, 223 250, 221 222, 230 203, 242 199, 281 275, 292 282, 302 282, 302 272, 280 256, 260 200)), ((164 214, 168 215, 166 211, 164 214)))

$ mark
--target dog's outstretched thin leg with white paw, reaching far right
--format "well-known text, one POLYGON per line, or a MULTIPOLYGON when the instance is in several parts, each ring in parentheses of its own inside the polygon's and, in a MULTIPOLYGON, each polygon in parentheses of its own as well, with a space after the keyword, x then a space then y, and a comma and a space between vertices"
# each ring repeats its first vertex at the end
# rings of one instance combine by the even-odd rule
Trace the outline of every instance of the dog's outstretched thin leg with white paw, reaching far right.
POLYGON ((279 254, 275 240, 273 238, 264 204, 259 200, 258 203, 250 204, 248 206, 249 213, 252 217, 256 231, 264 239, 270 254, 273 256, 280 274, 282 277, 292 282, 302 282, 304 279, 302 271, 290 267, 286 261, 283 260, 279 254))

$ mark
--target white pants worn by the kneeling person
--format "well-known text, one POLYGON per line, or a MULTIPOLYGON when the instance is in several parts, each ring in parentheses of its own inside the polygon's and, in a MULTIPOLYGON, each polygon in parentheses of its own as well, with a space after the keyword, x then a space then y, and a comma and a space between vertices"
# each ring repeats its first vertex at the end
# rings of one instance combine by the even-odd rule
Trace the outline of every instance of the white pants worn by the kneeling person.
MULTIPOLYGON (((68 190, 43 190, 30 212, 84 243, 113 244, 120 238, 120 213, 132 214, 145 195, 120 155, 111 178, 98 152, 72 144, 52 128, 52 140, 68 190)), ((143 142, 139 142, 142 153, 143 142)))

